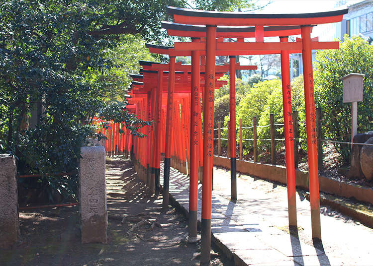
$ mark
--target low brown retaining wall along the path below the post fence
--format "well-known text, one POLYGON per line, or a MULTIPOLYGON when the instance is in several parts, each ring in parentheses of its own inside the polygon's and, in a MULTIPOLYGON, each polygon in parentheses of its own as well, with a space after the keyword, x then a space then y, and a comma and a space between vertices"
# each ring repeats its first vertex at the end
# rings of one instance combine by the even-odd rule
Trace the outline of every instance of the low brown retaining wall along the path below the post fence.
MULTIPOLYGON (((214 165, 230 169, 230 159, 214 156, 214 165)), ((286 184, 286 168, 284 166, 237 160, 237 171, 286 184)), ((297 188, 309 190, 308 172, 295 170, 295 184, 297 188)), ((340 182, 321 175, 319 176, 319 186, 322 192, 328 192, 346 198, 354 197, 357 200, 373 204, 372 188, 340 182)))

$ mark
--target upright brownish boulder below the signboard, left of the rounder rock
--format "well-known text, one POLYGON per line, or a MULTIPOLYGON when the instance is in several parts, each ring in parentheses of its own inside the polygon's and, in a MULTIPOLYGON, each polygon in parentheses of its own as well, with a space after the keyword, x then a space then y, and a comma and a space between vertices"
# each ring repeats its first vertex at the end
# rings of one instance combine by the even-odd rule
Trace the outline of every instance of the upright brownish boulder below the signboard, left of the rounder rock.
MULTIPOLYGON (((356 134, 353 138, 354 143, 364 143, 369 138, 373 137, 373 131, 367 133, 356 134)), ((363 148, 363 145, 352 145, 351 150, 351 167, 347 172, 346 176, 350 179, 362 179, 364 178, 362 168, 360 166, 360 151, 363 148)))

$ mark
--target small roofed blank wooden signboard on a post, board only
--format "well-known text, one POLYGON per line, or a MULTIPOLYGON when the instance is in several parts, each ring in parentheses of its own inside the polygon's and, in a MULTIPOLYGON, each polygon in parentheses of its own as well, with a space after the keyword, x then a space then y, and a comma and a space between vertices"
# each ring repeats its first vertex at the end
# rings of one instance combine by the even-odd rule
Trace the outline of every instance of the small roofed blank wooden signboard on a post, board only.
POLYGON ((350 73, 342 78, 344 103, 363 101, 364 76, 364 74, 350 73))

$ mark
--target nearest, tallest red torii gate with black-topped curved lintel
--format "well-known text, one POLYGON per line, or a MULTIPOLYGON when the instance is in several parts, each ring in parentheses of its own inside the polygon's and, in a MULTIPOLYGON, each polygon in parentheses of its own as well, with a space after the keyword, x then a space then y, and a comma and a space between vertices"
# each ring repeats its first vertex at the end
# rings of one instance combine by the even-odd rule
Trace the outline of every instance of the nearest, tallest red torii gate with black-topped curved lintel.
MULTIPOLYGON (((304 72, 304 96, 307 127, 307 149, 309 165, 309 187, 312 237, 321 239, 320 229, 320 201, 317 167, 316 147, 316 124, 315 105, 313 92, 312 74, 312 49, 337 49, 338 44, 333 42, 320 43, 311 42, 311 25, 339 22, 348 9, 304 14, 253 14, 246 12, 215 12, 192 10, 177 7, 168 7, 168 12, 173 15, 176 23, 206 25, 206 44, 203 43, 175 43, 175 50, 206 51, 205 72, 205 105, 203 110, 203 187, 202 187, 202 228, 201 228, 201 265, 210 264, 210 235, 211 235, 211 181, 213 170, 213 103, 214 103, 214 81, 215 81, 215 55, 219 50, 279 50, 285 51, 283 58, 289 50, 302 50, 303 72, 304 72), (217 43, 217 25, 228 26, 255 26, 255 43, 217 43), (302 39, 295 43, 286 42, 282 39, 280 43, 264 42, 265 26, 301 26, 302 39)), ((282 58, 282 56, 281 56, 282 58)), ((285 70, 286 69, 282 69, 285 70)), ((288 71, 288 69, 287 69, 288 71)), ((283 79, 283 85, 290 90, 290 83, 283 79)), ((286 91, 286 92, 287 92, 286 91)), ((285 123, 286 124, 286 123, 285 123)), ((286 130, 286 128, 285 128, 286 130)), ((290 133, 290 132, 288 132, 290 133)), ((291 133, 292 135, 292 133, 291 133)), ((286 158, 288 159, 288 158, 286 158)), ((288 191, 289 193, 289 191, 288 191)), ((295 194, 294 194, 295 195, 295 194)), ((288 194, 288 197, 290 195, 288 194)), ((290 198, 289 205, 290 205, 290 198)), ((295 198, 294 198, 295 203, 295 198)))

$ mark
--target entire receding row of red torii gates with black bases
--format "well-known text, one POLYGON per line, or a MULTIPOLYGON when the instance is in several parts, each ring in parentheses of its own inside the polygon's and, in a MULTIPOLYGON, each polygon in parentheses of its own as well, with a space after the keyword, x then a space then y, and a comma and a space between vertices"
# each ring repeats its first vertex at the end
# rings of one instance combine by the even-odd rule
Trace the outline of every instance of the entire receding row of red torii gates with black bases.
POLYGON ((311 39, 310 34, 312 27, 317 24, 342 21, 348 9, 302 14, 253 14, 167 8, 174 22, 163 22, 163 28, 171 36, 191 37, 191 42, 176 42, 175 47, 147 44, 151 53, 168 55, 169 64, 140 61, 140 74, 131 75, 133 82, 127 109, 143 120, 154 121, 152 126, 141 129, 142 133, 148 135, 147 138, 126 141, 127 148, 131 145, 140 177, 155 194, 159 194, 161 153, 164 153, 163 206, 167 208, 171 158, 173 166, 179 166, 179 169, 188 162, 188 238, 189 241, 196 241, 198 174, 202 172, 201 265, 209 265, 214 90, 227 84, 218 79, 229 71, 231 200, 235 202, 235 70, 256 69, 256 66, 240 66, 236 63, 236 56, 280 54, 288 219, 289 226, 296 226, 289 53, 302 53, 312 238, 321 239, 311 53, 316 49, 338 49, 339 43, 319 42, 318 38, 311 39), (288 36, 299 34, 301 38, 288 42, 288 36), (280 42, 264 42, 264 37, 279 37, 280 42), (227 38, 236 41, 226 42, 227 38), (244 38, 255 38, 255 42, 245 42, 244 38), (177 56, 190 56, 191 65, 176 63, 177 56), (229 64, 215 65, 215 56, 229 56, 229 64))

